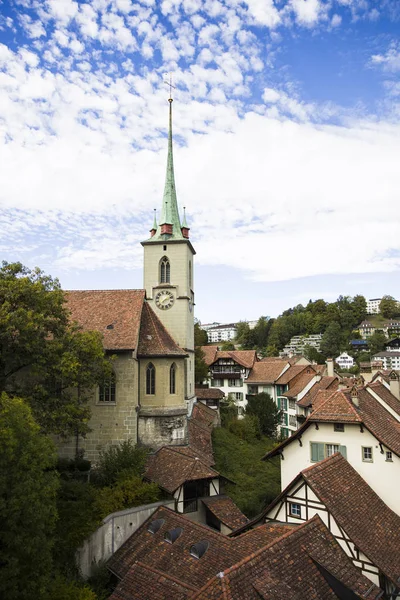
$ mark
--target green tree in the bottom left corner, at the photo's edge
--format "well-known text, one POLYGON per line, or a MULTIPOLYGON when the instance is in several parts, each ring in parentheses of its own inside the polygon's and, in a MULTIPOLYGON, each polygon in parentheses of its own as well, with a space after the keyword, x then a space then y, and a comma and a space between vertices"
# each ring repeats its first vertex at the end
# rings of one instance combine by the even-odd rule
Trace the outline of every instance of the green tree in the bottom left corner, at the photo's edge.
POLYGON ((29 406, 0 397, 0 596, 45 597, 52 566, 58 476, 51 440, 29 406))

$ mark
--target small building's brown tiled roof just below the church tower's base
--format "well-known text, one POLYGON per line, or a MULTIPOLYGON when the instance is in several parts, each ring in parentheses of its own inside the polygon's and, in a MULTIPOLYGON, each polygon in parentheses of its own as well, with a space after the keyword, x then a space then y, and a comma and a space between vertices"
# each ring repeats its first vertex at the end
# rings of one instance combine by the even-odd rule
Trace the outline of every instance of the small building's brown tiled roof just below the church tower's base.
POLYGON ((149 457, 144 476, 173 494, 185 481, 213 479, 219 473, 198 456, 182 453, 179 447, 163 446, 149 457))

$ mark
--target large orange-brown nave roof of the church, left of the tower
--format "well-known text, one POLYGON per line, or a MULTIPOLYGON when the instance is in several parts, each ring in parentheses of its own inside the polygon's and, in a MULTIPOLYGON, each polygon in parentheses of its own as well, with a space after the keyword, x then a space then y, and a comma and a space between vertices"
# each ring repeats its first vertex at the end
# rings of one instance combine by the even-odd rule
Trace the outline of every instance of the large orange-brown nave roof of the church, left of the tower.
POLYGON ((106 350, 137 348, 144 290, 74 290, 65 297, 71 320, 99 331, 106 350))

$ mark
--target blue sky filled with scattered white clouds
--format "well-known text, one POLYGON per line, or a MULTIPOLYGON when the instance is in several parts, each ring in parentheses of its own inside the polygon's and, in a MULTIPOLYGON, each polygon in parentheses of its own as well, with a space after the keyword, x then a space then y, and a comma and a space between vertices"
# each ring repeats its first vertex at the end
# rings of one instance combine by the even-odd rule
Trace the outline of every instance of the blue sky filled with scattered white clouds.
POLYGON ((172 74, 203 323, 400 298, 398 0, 0 0, 0 257, 141 288, 172 74))

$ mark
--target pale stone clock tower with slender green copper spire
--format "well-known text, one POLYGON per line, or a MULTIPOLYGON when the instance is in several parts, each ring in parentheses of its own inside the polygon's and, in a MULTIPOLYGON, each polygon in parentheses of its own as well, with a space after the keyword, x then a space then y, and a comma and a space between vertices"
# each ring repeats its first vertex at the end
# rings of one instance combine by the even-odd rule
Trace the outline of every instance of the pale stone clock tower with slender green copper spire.
POLYGON ((144 248, 144 289, 147 303, 187 358, 184 360, 184 398, 189 412, 194 401, 194 284, 195 250, 189 240, 185 209, 179 215, 172 144, 172 98, 169 98, 168 157, 159 222, 154 214, 144 248))

